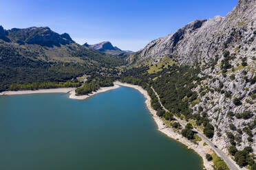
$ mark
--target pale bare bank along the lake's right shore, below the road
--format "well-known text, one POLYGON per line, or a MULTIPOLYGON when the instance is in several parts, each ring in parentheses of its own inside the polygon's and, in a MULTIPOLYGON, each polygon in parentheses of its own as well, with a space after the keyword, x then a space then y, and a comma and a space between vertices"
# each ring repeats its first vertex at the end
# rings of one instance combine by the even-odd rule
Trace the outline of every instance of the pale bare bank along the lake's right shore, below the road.
POLYGON ((140 91, 140 93, 142 93, 142 95, 144 95, 144 97, 146 98, 145 104, 146 104, 147 108, 149 109, 149 112, 152 114, 153 120, 156 122, 156 125, 158 125, 158 130, 160 132, 162 132, 163 134, 166 134, 167 136, 175 139, 176 141, 179 141, 180 143, 186 145, 188 147, 188 149, 193 149, 199 156, 202 157, 205 169, 213 170, 213 162, 212 161, 209 162, 205 158, 206 154, 212 153, 211 147, 209 147, 209 145, 204 145, 204 141, 200 141, 200 142, 198 142, 198 145, 196 145, 195 143, 184 138, 182 136, 182 134, 178 134, 177 132, 174 132, 171 127, 166 127, 164 125, 164 122, 162 121, 162 119, 160 119, 160 117, 158 117, 158 115, 156 115, 156 110, 154 110, 152 108, 151 98, 150 98, 149 94, 147 93, 147 90, 144 90, 141 86, 137 86, 137 85, 133 85, 133 84, 127 84, 127 83, 122 83, 122 82, 114 82, 114 84, 117 84, 120 86, 127 86, 127 87, 134 88, 134 89, 140 91))

